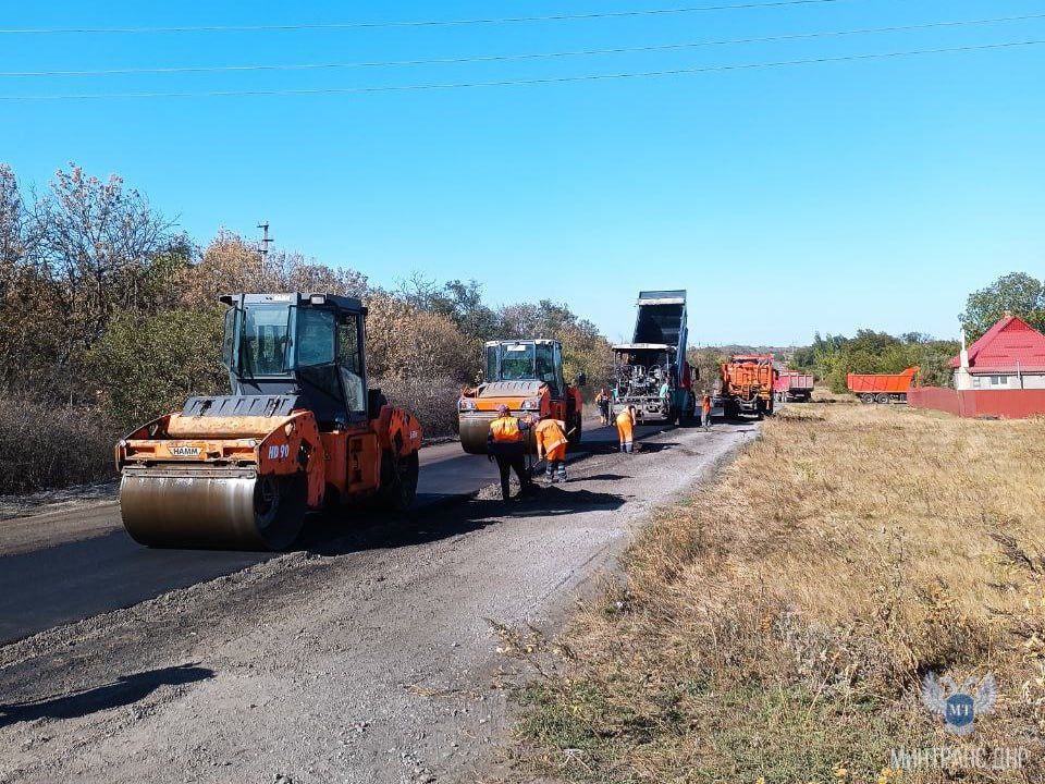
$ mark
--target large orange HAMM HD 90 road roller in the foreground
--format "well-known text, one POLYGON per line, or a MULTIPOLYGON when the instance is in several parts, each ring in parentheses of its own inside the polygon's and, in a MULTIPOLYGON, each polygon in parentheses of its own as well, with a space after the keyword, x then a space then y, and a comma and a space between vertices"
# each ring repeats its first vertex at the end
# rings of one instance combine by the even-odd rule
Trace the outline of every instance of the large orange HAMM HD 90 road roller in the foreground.
POLYGON ((366 308, 329 294, 237 294, 222 364, 232 394, 116 444, 123 524, 142 544, 283 550, 310 510, 370 499, 405 510, 421 428, 367 387, 366 308))

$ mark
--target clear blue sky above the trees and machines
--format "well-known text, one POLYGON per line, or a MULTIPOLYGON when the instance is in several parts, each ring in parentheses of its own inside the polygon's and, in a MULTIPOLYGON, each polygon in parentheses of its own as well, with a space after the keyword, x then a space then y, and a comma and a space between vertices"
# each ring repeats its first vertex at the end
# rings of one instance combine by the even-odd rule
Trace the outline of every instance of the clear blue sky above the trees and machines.
MULTIPOLYGON (((296 24, 678 8, 672 0, 2 3, 0 27, 296 24)), ((720 4, 720 3, 706 3, 720 4)), ((532 24, 0 36, 0 70, 358 62, 1045 13, 1030 0, 822 4, 532 24)), ((555 60, 322 72, 0 78, 0 95, 483 82, 1043 39, 1045 20, 555 60)), ((357 268, 475 278, 628 336, 685 287, 697 343, 813 330, 957 334, 998 274, 1045 275, 1045 46, 540 86, 0 102, 25 184, 119 172, 198 241, 220 226, 357 268)))

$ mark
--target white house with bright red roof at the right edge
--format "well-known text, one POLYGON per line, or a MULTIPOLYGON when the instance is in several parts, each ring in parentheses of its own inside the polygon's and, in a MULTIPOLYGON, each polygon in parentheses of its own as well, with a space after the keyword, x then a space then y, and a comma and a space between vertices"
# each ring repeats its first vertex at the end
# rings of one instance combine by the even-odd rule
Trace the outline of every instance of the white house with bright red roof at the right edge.
POLYGON ((962 341, 950 367, 959 391, 1045 389, 1045 335, 1006 314, 968 350, 962 341))

